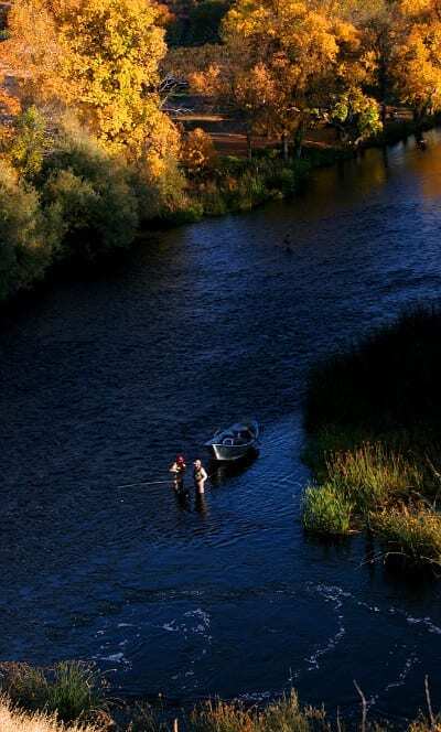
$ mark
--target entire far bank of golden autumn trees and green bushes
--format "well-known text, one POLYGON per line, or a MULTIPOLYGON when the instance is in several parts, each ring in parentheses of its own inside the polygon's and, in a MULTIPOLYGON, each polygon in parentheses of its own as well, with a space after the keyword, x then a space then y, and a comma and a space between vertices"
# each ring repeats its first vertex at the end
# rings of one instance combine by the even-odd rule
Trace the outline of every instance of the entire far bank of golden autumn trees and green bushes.
POLYGON ((160 226, 288 197, 311 169, 439 121, 437 0, 4 6, 0 302, 60 262, 104 266, 160 226), (245 157, 219 154, 214 114, 245 157))

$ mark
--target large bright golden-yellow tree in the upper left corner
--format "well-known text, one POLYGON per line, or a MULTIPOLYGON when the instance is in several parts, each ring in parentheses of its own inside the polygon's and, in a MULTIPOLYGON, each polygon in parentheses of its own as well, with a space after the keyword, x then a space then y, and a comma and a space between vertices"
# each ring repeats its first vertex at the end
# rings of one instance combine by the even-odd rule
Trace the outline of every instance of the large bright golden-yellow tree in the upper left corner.
POLYGON ((108 149, 157 154, 162 138, 178 147, 158 93, 158 15, 149 0, 15 0, 1 57, 28 103, 74 107, 108 149))

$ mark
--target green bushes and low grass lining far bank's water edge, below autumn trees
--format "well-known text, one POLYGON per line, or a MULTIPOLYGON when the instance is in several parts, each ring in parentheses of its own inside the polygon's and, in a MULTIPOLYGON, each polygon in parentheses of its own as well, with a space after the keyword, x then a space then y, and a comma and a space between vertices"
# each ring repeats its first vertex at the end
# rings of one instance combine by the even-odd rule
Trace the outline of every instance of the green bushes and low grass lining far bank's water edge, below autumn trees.
MULTIPOLYGON (((423 127, 430 129, 438 122, 438 117, 428 118, 423 127)), ((31 110, 22 123, 28 130, 41 120, 31 110)), ((309 142, 300 157, 288 161, 277 148, 257 150, 252 160, 208 155, 196 174, 185 169, 171 173, 170 190, 146 183, 78 129, 64 130, 52 153, 41 157, 37 174, 29 180, 24 176, 21 182, 4 166, 3 237, 8 248, 0 302, 15 299, 39 282, 57 280, 66 268, 94 271, 160 229, 292 197, 313 170, 421 129, 410 120, 390 122, 383 136, 359 148, 309 142)))

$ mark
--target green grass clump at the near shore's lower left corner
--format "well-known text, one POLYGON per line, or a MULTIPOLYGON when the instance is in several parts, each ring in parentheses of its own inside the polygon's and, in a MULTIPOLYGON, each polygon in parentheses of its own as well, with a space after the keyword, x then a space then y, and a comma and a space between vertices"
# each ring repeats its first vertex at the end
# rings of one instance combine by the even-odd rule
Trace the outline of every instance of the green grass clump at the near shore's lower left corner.
POLYGON ((21 709, 56 713, 64 722, 93 717, 106 706, 103 676, 83 661, 61 661, 47 669, 4 663, 0 687, 21 709))

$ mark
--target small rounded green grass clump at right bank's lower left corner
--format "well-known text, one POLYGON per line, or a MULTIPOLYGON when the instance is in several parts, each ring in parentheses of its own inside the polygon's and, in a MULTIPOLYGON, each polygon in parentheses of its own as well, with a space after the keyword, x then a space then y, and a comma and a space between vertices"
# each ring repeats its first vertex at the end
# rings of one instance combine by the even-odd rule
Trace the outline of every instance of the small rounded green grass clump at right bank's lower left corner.
POLYGON ((306 531, 329 536, 351 532, 353 505, 332 483, 304 492, 302 521, 306 531))

